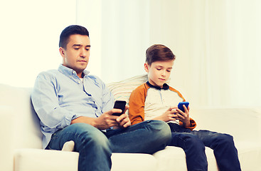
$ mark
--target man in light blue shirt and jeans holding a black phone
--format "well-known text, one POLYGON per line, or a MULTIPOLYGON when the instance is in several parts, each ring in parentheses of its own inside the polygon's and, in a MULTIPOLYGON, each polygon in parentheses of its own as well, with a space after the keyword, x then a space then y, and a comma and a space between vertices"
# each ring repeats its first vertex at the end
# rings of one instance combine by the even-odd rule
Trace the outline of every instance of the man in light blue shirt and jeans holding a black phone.
POLYGON ((105 171, 112 166, 112 152, 152 154, 166 147, 171 139, 166 123, 148 120, 131 126, 127 114, 112 115, 122 112, 112 109, 112 93, 100 78, 85 71, 90 57, 86 28, 66 27, 59 46, 63 64, 40 73, 31 95, 41 120, 43 148, 61 150, 73 140, 80 154, 79 171, 105 171))

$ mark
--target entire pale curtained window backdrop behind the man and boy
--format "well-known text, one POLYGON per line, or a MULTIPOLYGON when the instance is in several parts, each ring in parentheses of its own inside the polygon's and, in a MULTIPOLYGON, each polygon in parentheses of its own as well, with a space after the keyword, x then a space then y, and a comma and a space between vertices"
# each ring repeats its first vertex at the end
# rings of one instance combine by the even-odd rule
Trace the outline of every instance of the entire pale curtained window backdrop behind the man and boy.
POLYGON ((260 8, 259 0, 1 1, 1 83, 33 86, 62 61, 60 31, 81 24, 92 45, 87 70, 105 83, 144 74, 145 51, 162 43, 176 55, 170 86, 191 106, 260 106, 260 8))

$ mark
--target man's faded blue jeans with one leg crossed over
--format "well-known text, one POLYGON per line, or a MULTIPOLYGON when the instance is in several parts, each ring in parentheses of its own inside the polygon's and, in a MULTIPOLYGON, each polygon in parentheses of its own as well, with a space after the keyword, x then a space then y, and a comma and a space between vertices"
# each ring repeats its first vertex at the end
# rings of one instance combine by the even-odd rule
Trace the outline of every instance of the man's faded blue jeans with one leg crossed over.
POLYGON ((70 140, 75 142, 75 151, 79 152, 79 171, 106 171, 112 167, 112 152, 153 154, 169 144, 171 132, 169 126, 159 120, 147 120, 106 133, 92 125, 75 123, 54 133, 46 149, 61 150, 70 140))

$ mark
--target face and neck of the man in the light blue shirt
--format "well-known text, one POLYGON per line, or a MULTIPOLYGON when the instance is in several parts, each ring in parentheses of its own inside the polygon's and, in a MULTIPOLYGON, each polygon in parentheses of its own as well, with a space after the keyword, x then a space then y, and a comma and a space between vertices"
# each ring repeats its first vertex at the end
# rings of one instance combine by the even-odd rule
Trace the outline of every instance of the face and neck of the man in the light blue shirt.
POLYGON ((71 35, 66 49, 60 48, 59 51, 63 56, 63 66, 73 69, 81 78, 90 58, 90 38, 80 34, 71 35))

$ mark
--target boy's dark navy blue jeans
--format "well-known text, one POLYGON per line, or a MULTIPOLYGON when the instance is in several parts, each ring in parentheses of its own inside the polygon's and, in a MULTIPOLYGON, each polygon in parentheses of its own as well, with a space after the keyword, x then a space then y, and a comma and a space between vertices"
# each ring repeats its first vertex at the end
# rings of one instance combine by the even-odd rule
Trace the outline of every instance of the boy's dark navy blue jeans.
POLYGON ((170 145, 184 150, 188 171, 208 170, 205 146, 213 149, 219 170, 241 170, 238 150, 231 135, 209 130, 189 130, 175 123, 168 123, 168 125, 172 137, 170 145))

